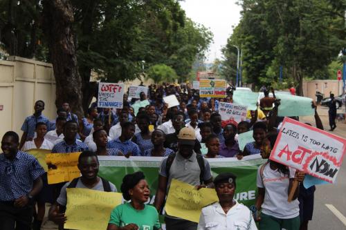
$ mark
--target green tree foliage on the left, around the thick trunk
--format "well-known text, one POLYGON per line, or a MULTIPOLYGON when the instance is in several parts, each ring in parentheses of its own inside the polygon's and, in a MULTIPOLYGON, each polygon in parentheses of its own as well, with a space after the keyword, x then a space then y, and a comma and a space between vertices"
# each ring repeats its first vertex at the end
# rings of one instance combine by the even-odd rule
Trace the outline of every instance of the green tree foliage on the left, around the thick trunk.
MULTIPOLYGON (((69 1, 84 84, 89 83, 91 70, 100 73, 102 81, 135 79, 143 73, 142 61, 145 71, 165 64, 184 81, 212 41, 210 30, 188 19, 179 1, 69 1)), ((39 2, 0 1, 0 46, 10 55, 49 61, 39 2)))

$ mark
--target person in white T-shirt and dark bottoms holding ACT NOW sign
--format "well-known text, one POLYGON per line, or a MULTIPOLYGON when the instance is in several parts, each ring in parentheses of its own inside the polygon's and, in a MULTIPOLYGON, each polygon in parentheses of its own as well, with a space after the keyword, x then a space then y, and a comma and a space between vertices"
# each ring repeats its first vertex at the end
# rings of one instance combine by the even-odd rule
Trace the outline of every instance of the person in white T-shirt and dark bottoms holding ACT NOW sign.
MULTIPOLYGON (((271 145, 275 143, 275 137, 269 138, 271 145)), ((267 151, 266 151, 267 152, 267 151)), ((270 151, 269 151, 270 152, 270 151)), ((262 153, 262 157, 264 157, 262 153)), ((304 180, 304 173, 288 168, 283 164, 268 160, 257 171, 258 195, 255 206, 251 207, 255 219, 260 221, 260 229, 286 229, 296 230, 300 228, 299 216, 299 189, 292 191, 293 181, 299 183, 304 180), (292 192, 293 198, 288 198, 292 192), (257 210, 261 215, 257 215, 257 210)))

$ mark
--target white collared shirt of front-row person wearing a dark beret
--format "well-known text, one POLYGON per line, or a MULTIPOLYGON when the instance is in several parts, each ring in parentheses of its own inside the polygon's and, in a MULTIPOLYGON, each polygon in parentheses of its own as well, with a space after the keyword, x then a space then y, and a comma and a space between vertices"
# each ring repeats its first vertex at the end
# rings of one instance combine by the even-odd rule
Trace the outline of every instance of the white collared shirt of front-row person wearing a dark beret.
POLYGON ((244 204, 235 205, 224 212, 219 202, 204 207, 199 216, 197 230, 257 230, 251 211, 244 204))

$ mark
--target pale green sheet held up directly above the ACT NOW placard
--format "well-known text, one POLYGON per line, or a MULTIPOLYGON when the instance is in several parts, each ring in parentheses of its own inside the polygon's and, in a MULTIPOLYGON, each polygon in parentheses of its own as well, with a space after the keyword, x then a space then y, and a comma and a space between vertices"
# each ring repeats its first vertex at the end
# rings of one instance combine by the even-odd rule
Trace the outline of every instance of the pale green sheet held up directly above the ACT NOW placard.
POLYGON ((286 93, 275 93, 277 99, 281 99, 277 115, 280 117, 310 116, 315 114, 311 107, 310 97, 299 97, 286 93))

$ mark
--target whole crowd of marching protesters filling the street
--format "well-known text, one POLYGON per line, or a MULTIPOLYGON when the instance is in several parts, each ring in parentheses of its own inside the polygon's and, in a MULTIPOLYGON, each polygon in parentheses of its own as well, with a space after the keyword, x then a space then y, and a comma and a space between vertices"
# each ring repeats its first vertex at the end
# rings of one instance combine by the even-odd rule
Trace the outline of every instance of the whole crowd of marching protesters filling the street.
MULTIPOLYGON (((196 186, 215 188, 219 202, 201 211, 199 223, 165 214, 166 229, 307 229, 313 213, 314 187, 300 186, 287 202, 293 180, 302 182, 304 173, 268 160, 257 172, 258 195, 248 209, 234 199, 237 175, 221 173, 212 178, 209 158, 261 155, 268 159, 283 117, 277 117, 280 100, 264 90, 264 98, 256 111, 248 111, 239 122, 222 120, 219 102, 233 102, 232 87, 224 98, 199 97, 199 90, 187 84, 151 85, 140 98, 124 95, 121 109, 97 108, 92 104, 86 117, 80 119, 65 102, 57 109, 57 118, 46 118, 44 101, 35 103, 35 113, 26 117, 21 130, 3 135, 0 154, 0 229, 40 229, 45 203, 51 203, 48 217, 64 229, 66 189, 84 188, 98 191, 121 191, 129 203, 113 209, 109 218, 111 229, 161 229, 158 213, 163 210, 172 179, 196 186), (179 106, 168 105, 163 97, 175 95, 179 106), (138 101, 149 105, 134 113, 138 101), (278 128, 279 127, 279 128, 278 128), (254 142, 239 149, 238 135, 253 130, 254 142), (71 182, 50 185, 47 174, 35 157, 26 153, 44 148, 51 153, 82 152, 78 159, 81 176, 71 182), (163 157, 158 171, 158 187, 154 206, 145 204, 150 188, 142 172, 126 175, 120 188, 98 177, 98 156, 163 157), (261 211, 260 215, 257 215, 261 211)), ((312 104, 316 108, 315 104, 312 104)), ((298 119, 298 117, 293 117, 298 119)), ((316 112, 316 126, 322 122, 316 112)), ((333 126, 335 128, 335 125, 333 126)))

